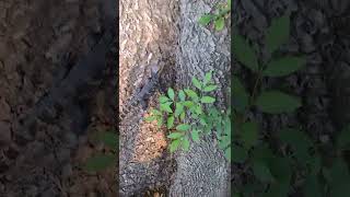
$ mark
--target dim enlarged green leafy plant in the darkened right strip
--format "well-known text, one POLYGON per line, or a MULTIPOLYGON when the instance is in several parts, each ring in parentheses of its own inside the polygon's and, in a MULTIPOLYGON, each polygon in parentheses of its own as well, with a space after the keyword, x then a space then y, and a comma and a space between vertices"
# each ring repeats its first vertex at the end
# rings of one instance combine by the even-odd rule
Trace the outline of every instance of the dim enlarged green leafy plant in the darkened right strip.
MULTIPOLYGON (((282 78, 306 63, 302 56, 278 53, 288 42, 289 15, 272 21, 265 36, 268 58, 258 57, 248 42, 234 33, 233 53, 237 60, 256 74, 252 91, 247 91, 236 74, 232 79, 233 93, 233 158, 244 164, 242 173, 248 177, 246 185, 236 186, 236 196, 288 196, 292 188, 304 196, 343 196, 350 192, 350 173, 343 160, 349 150, 350 126, 338 137, 330 158, 323 154, 325 148, 303 131, 302 127, 288 127, 277 136, 261 134, 261 126, 248 112, 256 108, 267 115, 293 113, 302 106, 301 99, 279 90, 261 88, 264 78, 282 78)), ((328 148, 329 149, 329 148, 328 148)), ((330 153, 329 153, 330 152, 330 153)))

